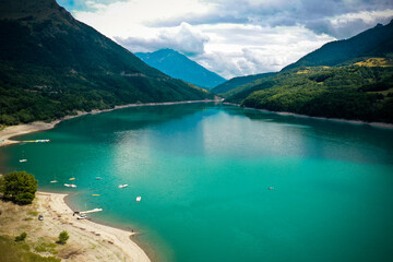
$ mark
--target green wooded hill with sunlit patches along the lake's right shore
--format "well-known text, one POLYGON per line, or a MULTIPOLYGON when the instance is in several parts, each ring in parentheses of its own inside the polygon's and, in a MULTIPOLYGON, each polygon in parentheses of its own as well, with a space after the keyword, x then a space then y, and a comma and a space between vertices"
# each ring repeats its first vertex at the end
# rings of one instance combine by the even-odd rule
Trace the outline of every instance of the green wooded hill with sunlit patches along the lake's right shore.
POLYGON ((313 117, 393 123, 393 67, 307 67, 258 80, 226 102, 313 117))

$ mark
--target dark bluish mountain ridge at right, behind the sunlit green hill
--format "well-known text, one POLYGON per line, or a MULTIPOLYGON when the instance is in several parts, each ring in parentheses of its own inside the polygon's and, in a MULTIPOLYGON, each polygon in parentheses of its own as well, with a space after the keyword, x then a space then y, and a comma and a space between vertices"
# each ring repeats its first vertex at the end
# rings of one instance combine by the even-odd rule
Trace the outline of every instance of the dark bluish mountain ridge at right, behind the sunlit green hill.
POLYGON ((334 67, 353 63, 368 57, 386 57, 393 53, 393 20, 386 24, 365 31, 349 39, 331 41, 318 50, 308 53, 283 69, 283 71, 298 67, 334 67))

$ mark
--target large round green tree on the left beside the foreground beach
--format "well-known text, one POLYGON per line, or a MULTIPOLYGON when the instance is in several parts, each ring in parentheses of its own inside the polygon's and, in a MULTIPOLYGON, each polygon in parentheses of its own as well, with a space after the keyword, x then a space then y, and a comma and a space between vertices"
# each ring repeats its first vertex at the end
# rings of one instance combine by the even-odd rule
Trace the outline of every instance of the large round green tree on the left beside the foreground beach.
POLYGON ((3 198, 17 204, 29 204, 37 191, 37 180, 26 171, 13 171, 4 176, 3 198))

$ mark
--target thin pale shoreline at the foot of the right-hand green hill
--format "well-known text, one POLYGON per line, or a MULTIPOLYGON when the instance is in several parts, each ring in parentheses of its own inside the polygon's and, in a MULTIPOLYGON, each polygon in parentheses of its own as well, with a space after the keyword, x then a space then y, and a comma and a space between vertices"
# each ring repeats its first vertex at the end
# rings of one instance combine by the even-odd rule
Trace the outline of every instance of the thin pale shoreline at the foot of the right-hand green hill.
MULTIPOLYGON (((241 107, 239 104, 225 103, 225 102, 223 103, 223 105, 241 107)), ((260 109, 260 108, 253 108, 253 107, 242 107, 242 108, 247 109, 247 110, 257 110, 257 111, 276 114, 276 115, 285 116, 285 117, 309 118, 309 119, 342 122, 342 123, 364 124, 364 126, 369 126, 372 128, 393 129, 393 123, 385 123, 385 122, 366 122, 366 121, 361 121, 361 120, 349 120, 349 119, 344 119, 344 118, 312 117, 312 116, 307 116, 307 115, 301 115, 301 114, 296 114, 296 112, 272 111, 272 110, 267 110, 267 109, 260 109)))

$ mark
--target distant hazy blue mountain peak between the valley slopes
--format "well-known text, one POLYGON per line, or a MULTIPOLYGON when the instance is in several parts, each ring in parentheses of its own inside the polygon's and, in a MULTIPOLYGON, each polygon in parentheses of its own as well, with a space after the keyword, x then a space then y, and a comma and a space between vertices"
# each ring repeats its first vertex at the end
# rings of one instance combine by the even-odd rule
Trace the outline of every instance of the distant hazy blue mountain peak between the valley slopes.
POLYGON ((135 56, 171 78, 181 79, 200 87, 212 88, 226 81, 184 55, 171 49, 160 49, 155 52, 135 52, 135 56))

